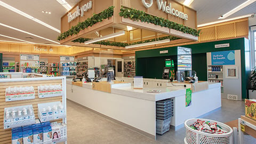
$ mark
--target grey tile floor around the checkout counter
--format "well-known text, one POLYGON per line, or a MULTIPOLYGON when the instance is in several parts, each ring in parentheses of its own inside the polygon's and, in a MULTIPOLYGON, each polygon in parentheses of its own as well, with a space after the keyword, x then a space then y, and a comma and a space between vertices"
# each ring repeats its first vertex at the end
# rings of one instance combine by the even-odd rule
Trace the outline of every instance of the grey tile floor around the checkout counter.
MULTIPOLYGON (((225 123, 233 121, 241 115, 244 115, 244 102, 222 99, 220 110, 201 118, 214 119, 225 123)), ((185 128, 178 131, 170 130, 163 135, 157 135, 155 141, 69 100, 67 101, 67 123, 68 143, 177 144, 184 143, 183 139, 186 132, 185 128)), ((250 135, 245 135, 244 143, 252 144, 256 143, 256 140, 250 135)))

